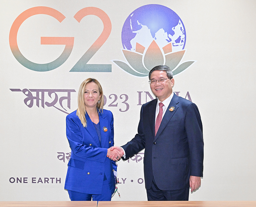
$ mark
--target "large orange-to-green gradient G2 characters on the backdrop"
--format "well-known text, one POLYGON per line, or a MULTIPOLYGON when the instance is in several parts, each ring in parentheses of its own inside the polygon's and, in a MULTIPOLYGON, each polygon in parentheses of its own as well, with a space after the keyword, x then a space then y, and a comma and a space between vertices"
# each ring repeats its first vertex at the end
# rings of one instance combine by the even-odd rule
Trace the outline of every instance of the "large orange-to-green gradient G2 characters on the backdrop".
MULTIPOLYGON (((41 72, 54 70, 68 59, 74 46, 74 37, 41 37, 41 45, 65 45, 65 48, 62 54, 56 60, 50 63, 39 64, 29 61, 20 52, 17 44, 17 34, 21 24, 29 17, 37 14, 46 14, 52 16, 60 23, 66 18, 59 11, 45 6, 33 7, 22 12, 12 24, 9 34, 10 48, 17 61, 26 68, 41 72)), ((111 72, 111 64, 87 64, 92 56, 95 55, 95 53, 108 39, 112 28, 111 21, 104 11, 96 7, 83 8, 75 14, 74 18, 80 23, 80 21, 87 15, 95 15, 99 17, 103 23, 104 28, 98 39, 77 61, 70 72, 111 72)))

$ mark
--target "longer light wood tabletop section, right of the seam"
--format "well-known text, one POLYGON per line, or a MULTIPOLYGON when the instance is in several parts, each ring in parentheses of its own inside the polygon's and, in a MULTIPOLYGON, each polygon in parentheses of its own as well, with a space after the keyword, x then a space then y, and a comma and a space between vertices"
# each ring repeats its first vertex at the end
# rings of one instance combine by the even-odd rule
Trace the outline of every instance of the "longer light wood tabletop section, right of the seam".
POLYGON ((98 207, 256 207, 256 201, 99 201, 98 207))

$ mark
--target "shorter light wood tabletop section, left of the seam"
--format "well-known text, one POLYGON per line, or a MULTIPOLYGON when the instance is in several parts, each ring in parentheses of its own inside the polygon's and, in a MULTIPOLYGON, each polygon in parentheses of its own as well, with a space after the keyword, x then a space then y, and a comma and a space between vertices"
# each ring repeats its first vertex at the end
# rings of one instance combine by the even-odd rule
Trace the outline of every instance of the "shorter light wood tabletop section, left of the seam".
POLYGON ((97 207, 97 201, 1 201, 0 207, 97 207))

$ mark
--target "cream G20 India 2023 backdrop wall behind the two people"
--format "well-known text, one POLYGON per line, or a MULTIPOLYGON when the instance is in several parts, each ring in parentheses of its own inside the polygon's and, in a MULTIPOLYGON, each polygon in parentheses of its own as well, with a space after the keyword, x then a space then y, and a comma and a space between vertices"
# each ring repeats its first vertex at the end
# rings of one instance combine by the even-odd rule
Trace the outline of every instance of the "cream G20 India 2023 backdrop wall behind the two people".
MULTIPOLYGON (((155 98, 148 72, 163 64, 203 122, 204 178, 190 200, 256 199, 254 0, 0 5, 0 201, 69 200, 65 117, 81 82, 100 81, 115 145, 123 145, 141 105, 155 98)), ((117 162, 121 197, 112 200, 147 200, 143 159, 141 151, 117 162)))

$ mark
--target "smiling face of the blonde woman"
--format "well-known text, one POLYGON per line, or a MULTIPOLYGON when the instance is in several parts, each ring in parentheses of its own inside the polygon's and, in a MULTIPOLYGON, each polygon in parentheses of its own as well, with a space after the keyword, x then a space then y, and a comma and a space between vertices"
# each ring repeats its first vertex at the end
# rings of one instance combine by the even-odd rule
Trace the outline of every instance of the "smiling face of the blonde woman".
POLYGON ((96 108, 97 103, 100 100, 101 94, 99 87, 96 83, 87 83, 84 90, 84 105, 86 108, 96 108))

